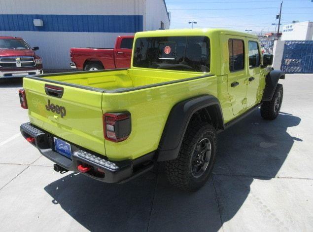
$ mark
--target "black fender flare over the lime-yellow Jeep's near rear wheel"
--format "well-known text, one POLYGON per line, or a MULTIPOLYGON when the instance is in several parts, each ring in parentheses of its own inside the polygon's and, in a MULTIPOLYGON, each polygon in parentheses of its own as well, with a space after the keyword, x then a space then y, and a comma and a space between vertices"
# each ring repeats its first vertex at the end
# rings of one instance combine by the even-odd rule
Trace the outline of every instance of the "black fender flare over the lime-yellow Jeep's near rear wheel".
POLYGON ((224 129, 224 119, 218 99, 212 95, 202 95, 177 103, 172 108, 157 151, 157 161, 175 159, 179 153, 182 140, 191 116, 198 110, 214 106, 218 117, 217 129, 224 129))

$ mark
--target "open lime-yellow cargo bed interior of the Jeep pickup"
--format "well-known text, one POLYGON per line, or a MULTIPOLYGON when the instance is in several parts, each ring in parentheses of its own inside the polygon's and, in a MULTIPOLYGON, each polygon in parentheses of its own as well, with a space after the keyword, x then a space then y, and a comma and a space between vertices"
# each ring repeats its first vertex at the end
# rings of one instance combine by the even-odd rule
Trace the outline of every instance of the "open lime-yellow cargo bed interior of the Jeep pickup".
MULTIPOLYGON (((93 72, 72 72, 37 76, 48 82, 71 84, 104 90, 104 92, 124 92, 169 81, 180 81, 186 78, 203 76, 199 73, 173 71, 147 71, 136 69, 115 69, 93 72)), ((32 78, 32 77, 29 77, 32 78)), ((36 77, 34 77, 36 78, 36 77)))

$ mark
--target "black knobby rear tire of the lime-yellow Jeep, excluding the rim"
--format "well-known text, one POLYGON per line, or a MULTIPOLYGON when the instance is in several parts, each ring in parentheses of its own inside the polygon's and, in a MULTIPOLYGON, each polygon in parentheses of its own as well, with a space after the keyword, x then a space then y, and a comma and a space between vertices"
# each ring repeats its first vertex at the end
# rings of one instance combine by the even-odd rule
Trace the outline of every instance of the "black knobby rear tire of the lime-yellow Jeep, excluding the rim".
POLYGON ((179 154, 176 159, 165 162, 168 180, 175 187, 194 192, 199 190, 208 180, 216 159, 216 130, 207 122, 193 122, 188 126, 179 154), (192 173, 192 159, 199 141, 209 139, 211 155, 206 170, 200 177, 192 173))

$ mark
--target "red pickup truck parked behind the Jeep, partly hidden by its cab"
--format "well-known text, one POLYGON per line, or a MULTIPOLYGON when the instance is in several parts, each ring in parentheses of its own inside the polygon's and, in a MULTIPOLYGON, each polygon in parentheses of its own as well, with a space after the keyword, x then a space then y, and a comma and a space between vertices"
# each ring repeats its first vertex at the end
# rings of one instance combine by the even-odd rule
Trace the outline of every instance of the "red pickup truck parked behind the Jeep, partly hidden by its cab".
POLYGON ((119 36, 114 48, 71 48, 70 67, 79 70, 130 68, 134 36, 119 36))

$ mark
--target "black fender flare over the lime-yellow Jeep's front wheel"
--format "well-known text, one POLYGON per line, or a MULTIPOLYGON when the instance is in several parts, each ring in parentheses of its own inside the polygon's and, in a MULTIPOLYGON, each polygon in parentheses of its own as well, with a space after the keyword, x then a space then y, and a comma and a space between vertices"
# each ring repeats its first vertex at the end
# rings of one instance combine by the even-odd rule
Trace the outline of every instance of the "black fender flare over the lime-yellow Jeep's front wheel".
POLYGON ((279 79, 284 79, 285 73, 280 70, 273 70, 265 77, 265 89, 262 102, 271 101, 279 79))

